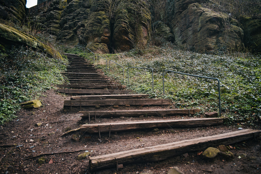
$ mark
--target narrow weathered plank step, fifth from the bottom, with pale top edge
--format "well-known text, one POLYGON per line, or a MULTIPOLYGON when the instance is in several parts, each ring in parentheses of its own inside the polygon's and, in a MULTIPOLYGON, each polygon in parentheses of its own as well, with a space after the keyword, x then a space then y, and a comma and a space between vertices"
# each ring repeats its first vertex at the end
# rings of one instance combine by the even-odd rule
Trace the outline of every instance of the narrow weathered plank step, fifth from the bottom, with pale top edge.
POLYGON ((71 100, 91 100, 91 99, 108 99, 108 98, 143 98, 148 97, 148 94, 128 94, 128 95, 80 95, 72 96, 71 100))

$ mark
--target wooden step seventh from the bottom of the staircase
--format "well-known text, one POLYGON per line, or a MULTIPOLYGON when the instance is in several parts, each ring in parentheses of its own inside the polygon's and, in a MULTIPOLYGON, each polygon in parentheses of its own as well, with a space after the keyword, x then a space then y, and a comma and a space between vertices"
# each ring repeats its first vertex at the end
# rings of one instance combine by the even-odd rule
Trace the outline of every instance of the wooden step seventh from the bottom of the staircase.
POLYGON ((103 84, 86 84, 86 85, 71 85, 71 84, 63 84, 57 85, 59 88, 74 88, 74 89, 125 89, 126 86, 123 85, 103 85, 103 84))

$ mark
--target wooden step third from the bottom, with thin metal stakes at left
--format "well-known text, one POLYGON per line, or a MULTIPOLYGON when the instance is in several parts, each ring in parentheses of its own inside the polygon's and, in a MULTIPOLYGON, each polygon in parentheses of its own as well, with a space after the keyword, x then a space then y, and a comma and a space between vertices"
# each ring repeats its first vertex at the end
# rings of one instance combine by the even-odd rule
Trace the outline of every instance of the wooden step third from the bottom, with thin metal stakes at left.
MULTIPOLYGON (((99 96, 99 95, 98 95, 99 96)), ((134 110, 134 111, 80 111, 82 118, 90 116, 97 117, 138 117, 140 115, 147 116, 167 116, 167 115, 194 115, 200 112, 200 109, 171 109, 171 110, 134 110)))

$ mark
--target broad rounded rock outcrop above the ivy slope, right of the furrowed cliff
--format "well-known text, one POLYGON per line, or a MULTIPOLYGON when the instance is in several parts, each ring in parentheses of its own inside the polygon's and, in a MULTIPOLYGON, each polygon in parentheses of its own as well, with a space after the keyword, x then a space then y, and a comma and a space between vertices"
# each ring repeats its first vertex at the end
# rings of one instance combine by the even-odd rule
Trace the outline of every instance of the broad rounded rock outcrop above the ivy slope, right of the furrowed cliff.
POLYGON ((244 48, 242 25, 221 12, 202 7, 202 0, 176 0, 171 27, 178 45, 197 52, 244 48))

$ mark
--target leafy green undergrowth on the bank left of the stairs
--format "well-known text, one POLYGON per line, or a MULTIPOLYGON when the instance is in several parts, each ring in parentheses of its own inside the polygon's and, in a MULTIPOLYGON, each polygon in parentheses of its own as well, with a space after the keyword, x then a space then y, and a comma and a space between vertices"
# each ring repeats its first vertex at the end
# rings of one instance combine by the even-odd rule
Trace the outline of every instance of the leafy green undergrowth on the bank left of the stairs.
POLYGON ((15 47, 0 52, 0 124, 13 119, 19 103, 60 84, 66 62, 41 52, 15 47))

